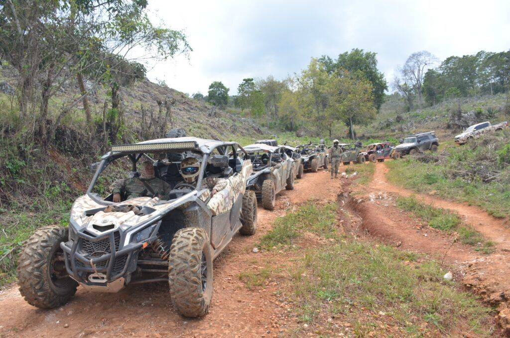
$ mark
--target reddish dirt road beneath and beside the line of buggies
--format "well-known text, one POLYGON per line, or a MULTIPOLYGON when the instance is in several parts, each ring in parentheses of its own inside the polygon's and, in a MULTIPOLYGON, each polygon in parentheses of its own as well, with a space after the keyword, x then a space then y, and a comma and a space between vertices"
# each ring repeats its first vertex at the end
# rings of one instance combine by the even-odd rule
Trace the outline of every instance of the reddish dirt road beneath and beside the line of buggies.
MULTIPOLYGON (((214 262, 213 301, 204 318, 190 320, 178 315, 165 283, 128 286, 117 294, 96 294, 79 287, 71 302, 53 310, 40 310, 25 303, 16 286, 12 286, 0 293, 0 336, 281 335, 292 324, 282 319, 286 309, 275 296, 278 285, 250 292, 238 276, 261 264, 260 253, 252 253, 252 248, 277 216, 310 198, 335 201, 340 187, 340 180, 330 180, 324 171, 307 173, 296 181, 295 190, 278 195, 274 211, 259 207, 256 235, 236 236, 214 262)), ((275 255, 275 261, 281 258, 278 253, 275 255)))

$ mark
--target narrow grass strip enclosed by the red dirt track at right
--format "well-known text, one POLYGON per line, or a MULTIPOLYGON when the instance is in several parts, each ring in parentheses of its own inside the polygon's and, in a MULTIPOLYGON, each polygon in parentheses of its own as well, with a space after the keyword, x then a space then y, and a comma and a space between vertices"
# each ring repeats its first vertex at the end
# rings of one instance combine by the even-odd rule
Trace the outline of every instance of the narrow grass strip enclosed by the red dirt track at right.
POLYGON ((476 246, 475 250, 477 251, 485 254, 490 254, 494 251, 494 243, 486 240, 472 227, 463 225, 460 217, 454 212, 420 203, 416 196, 398 197, 397 205, 400 209, 412 212, 434 229, 448 233, 457 232, 461 243, 476 246))

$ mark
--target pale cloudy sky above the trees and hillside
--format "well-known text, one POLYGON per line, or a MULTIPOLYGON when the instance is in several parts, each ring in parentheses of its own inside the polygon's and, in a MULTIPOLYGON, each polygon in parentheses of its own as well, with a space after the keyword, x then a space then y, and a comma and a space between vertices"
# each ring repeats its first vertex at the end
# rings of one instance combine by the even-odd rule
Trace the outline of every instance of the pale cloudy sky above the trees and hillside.
POLYGON ((168 1, 150 0, 155 20, 184 30, 190 59, 149 65, 150 80, 193 94, 221 81, 230 94, 243 78, 283 79, 311 57, 361 48, 377 53, 391 83, 413 52, 440 60, 510 49, 510 1, 168 1))

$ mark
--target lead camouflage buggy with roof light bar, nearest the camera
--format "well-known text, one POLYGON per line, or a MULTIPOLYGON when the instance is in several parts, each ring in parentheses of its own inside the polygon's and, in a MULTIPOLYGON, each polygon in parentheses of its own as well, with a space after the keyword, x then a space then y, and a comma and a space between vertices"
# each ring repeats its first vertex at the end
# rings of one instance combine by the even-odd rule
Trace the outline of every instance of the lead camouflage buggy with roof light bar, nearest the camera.
POLYGON ((43 227, 25 244, 18 266, 21 295, 34 306, 53 308, 65 304, 79 284, 93 292, 118 292, 127 284, 169 282, 179 313, 205 315, 213 259, 237 231, 256 231, 257 199, 246 190, 252 165, 238 151, 244 152, 235 142, 194 137, 113 146, 96 163, 86 194, 74 202, 69 227, 43 227), (181 162, 190 157, 199 163, 193 184, 180 175, 181 162), (137 163, 147 158, 171 187, 165 198, 137 191, 139 197, 112 202, 108 184, 126 172, 138 177, 137 163), (224 188, 213 193, 206 182, 211 177, 224 188))

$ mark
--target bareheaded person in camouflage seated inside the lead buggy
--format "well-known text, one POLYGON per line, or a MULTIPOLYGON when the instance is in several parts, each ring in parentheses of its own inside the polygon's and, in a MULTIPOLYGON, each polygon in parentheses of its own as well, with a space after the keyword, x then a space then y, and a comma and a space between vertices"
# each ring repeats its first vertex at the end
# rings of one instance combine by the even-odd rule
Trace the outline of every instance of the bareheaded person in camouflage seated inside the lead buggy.
POLYGON ((154 177, 154 165, 148 158, 142 160, 140 177, 116 180, 110 185, 113 194, 113 202, 121 201, 121 194, 125 194, 126 200, 137 197, 159 197, 165 199, 171 190, 170 184, 162 179, 154 177))

